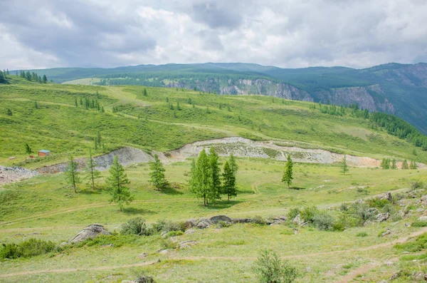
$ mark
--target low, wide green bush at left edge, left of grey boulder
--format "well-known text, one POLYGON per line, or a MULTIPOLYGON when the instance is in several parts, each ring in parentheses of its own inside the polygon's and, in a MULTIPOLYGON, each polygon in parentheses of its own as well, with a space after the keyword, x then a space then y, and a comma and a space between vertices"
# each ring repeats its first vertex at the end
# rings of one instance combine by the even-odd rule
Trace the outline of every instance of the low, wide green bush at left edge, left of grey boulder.
POLYGON ((3 244, 0 248, 0 258, 16 259, 19 257, 34 257, 39 254, 53 252, 56 245, 51 241, 43 241, 31 238, 19 244, 3 244))

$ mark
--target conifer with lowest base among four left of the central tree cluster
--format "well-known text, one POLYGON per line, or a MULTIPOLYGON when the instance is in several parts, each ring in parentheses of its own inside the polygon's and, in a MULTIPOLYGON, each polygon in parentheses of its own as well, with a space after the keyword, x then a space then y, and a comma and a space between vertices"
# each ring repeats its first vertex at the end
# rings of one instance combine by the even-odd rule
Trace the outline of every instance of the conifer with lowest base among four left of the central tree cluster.
POLYGON ((119 158, 115 155, 110 167, 110 176, 107 177, 107 185, 111 192, 110 202, 117 202, 120 211, 123 210, 123 203, 128 205, 134 199, 127 187, 129 184, 130 180, 127 179, 125 168, 119 163, 119 158))

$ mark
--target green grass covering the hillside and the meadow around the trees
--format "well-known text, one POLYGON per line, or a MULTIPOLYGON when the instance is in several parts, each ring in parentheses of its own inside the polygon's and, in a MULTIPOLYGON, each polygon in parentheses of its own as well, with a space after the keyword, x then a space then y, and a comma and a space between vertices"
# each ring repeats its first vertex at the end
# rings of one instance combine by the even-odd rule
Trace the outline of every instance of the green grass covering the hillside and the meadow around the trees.
MULTIPOLYGON (((105 150, 98 149, 96 154, 122 146, 165 152, 196 140, 242 136, 301 148, 427 162, 426 152, 374 127, 369 119, 354 117, 349 109, 335 116, 320 113, 313 103, 265 96, 216 96, 171 88, 147 88, 147 93, 144 96, 143 88, 137 86, 39 85, 14 78, 14 84, 0 86, 0 164, 38 168, 66 160, 70 153, 83 157, 89 148, 94 150, 98 131, 105 150), (80 98, 97 101, 105 112, 86 110, 80 98), (7 115, 7 109, 12 115, 7 115), (52 155, 30 162, 25 143, 33 150, 50 149, 52 155), (10 156, 16 159, 9 160, 10 156)), ((225 161, 220 158, 221 168, 225 161)), ((263 249, 274 250, 297 267, 297 282, 381 282, 399 270, 427 272, 425 251, 403 253, 408 248, 394 247, 398 242, 411 244, 409 236, 427 232, 426 227, 411 226, 426 213, 416 204, 425 189, 413 190, 418 193, 414 198, 407 193, 413 182, 427 182, 427 170, 349 168, 342 175, 338 165, 296 163, 292 186, 301 189, 288 190, 280 182, 284 162, 237 161, 238 196, 208 207, 188 190, 191 160, 165 164, 172 188, 164 191, 149 185, 148 164, 127 166, 135 200, 122 212, 109 202, 107 171, 102 172, 98 190, 81 184, 77 194, 62 173, 3 185, 0 245, 30 238, 59 245, 94 223, 117 234, 35 257, 0 259, 0 282, 122 282, 141 272, 157 282, 257 282, 252 266, 263 249), (288 215, 295 207, 316 206, 339 220, 344 215, 339 210, 342 203, 370 203, 372 197, 388 191, 396 197, 381 207, 391 212, 389 220, 353 225, 343 232, 286 222, 212 225, 174 237, 118 233, 134 217, 143 217, 148 225, 214 215, 265 218, 288 215), (399 216, 401 211, 406 212, 404 217, 399 216), (379 237, 387 229, 391 235, 379 237), (177 243, 189 240, 196 245, 177 248, 177 243), (167 252, 160 254, 164 249, 167 252), (147 257, 139 258, 142 252, 147 257)), ((402 275, 396 282, 411 278, 402 275)))

